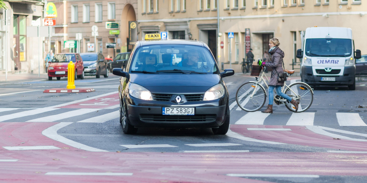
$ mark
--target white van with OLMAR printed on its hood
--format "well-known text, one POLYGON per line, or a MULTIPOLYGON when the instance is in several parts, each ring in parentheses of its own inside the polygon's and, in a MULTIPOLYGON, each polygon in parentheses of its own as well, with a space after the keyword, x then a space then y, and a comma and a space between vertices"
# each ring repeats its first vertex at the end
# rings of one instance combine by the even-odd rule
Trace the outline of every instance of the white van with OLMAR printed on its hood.
POLYGON ((310 86, 348 86, 355 90, 355 50, 352 29, 346 27, 309 27, 301 32, 301 80, 310 86))

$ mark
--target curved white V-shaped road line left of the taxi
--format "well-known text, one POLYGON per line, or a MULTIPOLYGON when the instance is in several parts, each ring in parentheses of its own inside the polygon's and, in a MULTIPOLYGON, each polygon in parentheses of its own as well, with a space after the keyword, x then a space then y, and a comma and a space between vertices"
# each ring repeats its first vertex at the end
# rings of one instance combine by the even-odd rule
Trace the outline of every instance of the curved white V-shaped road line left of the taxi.
POLYGON ((94 147, 90 147, 84 144, 81 144, 79 142, 75 142, 72 141, 70 139, 67 139, 65 137, 62 137, 61 135, 57 134, 57 130, 59 130, 60 128, 63 128, 65 126, 68 126, 69 124, 72 124, 72 122, 61 122, 58 124, 55 124, 54 126, 51 126, 49 128, 47 128, 46 130, 42 131, 42 135, 53 139, 55 141, 59 141, 61 143, 65 143, 66 145, 78 148, 78 149, 83 149, 83 150, 87 150, 87 151, 91 151, 91 152, 108 152, 106 150, 102 150, 102 149, 97 149, 94 147))

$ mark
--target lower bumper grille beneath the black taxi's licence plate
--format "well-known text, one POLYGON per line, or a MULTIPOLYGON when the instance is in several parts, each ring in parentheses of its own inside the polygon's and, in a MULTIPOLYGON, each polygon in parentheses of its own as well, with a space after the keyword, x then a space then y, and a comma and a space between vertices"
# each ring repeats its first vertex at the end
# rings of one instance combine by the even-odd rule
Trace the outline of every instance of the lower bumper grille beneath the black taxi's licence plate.
POLYGON ((150 115, 141 114, 140 119, 145 122, 214 122, 216 115, 150 115))

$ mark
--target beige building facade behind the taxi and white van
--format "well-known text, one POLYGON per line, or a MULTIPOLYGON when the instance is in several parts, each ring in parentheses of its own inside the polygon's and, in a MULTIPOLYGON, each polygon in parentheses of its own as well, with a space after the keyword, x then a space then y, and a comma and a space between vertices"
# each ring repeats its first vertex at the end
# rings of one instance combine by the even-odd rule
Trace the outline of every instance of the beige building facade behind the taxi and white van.
POLYGON ((366 8, 361 0, 139 0, 138 38, 167 31, 168 38, 203 41, 221 69, 241 72, 248 50, 260 59, 276 37, 286 69, 299 72, 296 51, 307 27, 350 27, 355 48, 366 53, 366 8))

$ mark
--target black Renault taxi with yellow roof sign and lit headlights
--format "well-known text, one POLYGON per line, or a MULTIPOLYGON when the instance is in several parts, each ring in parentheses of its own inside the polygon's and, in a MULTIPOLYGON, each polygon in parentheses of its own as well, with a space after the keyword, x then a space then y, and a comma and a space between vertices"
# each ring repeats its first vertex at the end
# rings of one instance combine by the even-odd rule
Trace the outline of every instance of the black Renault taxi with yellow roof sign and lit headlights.
POLYGON ((114 68, 120 79, 120 123, 123 132, 139 127, 229 129, 229 94, 208 46, 191 40, 137 41, 126 67, 114 68), (173 58, 181 58, 173 62, 173 58))

